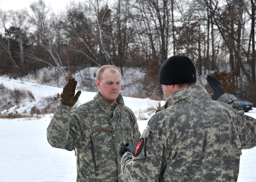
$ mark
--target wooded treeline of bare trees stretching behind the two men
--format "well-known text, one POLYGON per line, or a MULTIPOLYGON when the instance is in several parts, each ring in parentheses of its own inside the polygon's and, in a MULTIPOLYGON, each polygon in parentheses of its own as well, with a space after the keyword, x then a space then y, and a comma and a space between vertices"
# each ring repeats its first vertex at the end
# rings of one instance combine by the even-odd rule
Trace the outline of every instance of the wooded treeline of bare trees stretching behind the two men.
POLYGON ((183 54, 198 76, 215 71, 226 92, 256 103, 255 12, 255 0, 86 0, 56 14, 39 0, 0 11, 0 74, 141 67, 147 94, 162 96, 159 67, 183 54))

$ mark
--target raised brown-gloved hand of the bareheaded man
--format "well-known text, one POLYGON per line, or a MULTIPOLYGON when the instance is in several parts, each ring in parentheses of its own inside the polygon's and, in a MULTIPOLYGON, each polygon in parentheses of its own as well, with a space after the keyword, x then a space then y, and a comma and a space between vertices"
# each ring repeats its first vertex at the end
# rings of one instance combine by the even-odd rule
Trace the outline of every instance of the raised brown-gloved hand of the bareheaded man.
POLYGON ((70 78, 68 82, 64 85, 62 94, 60 95, 61 103, 70 107, 73 107, 75 103, 77 102, 81 91, 77 91, 77 94, 75 95, 76 91, 76 86, 77 86, 77 81, 75 81, 74 78, 70 78))

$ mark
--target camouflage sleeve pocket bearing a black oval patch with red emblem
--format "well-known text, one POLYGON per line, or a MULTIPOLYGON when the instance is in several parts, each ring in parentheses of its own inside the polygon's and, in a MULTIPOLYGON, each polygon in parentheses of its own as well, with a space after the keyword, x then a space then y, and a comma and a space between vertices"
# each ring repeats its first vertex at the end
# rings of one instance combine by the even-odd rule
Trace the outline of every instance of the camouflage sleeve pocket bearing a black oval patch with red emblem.
POLYGON ((151 128, 147 126, 146 129, 144 129, 135 150, 133 151, 133 154, 132 154, 133 161, 137 159, 144 160, 146 158, 146 142, 150 133, 152 133, 151 128))

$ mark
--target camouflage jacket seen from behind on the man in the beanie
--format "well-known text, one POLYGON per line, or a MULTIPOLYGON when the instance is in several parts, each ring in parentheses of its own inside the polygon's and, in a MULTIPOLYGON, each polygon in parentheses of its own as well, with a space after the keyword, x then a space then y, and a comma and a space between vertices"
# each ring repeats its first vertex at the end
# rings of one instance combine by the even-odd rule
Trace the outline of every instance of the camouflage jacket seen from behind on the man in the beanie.
MULTIPOLYGON (((219 99, 241 109, 227 94, 219 99)), ((230 105, 212 100, 202 85, 171 94, 133 154, 123 155, 123 180, 237 181, 241 149, 256 146, 256 121, 230 105)))

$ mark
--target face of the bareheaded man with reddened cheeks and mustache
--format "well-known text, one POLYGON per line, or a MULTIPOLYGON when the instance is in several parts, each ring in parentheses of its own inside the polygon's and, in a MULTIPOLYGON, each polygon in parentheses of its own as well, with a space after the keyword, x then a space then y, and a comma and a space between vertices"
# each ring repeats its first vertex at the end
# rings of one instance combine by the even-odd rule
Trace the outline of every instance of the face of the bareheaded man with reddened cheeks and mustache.
POLYGON ((121 74, 116 69, 106 69, 102 74, 102 80, 96 80, 100 94, 108 105, 117 103, 121 90, 121 74))

